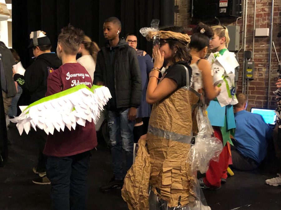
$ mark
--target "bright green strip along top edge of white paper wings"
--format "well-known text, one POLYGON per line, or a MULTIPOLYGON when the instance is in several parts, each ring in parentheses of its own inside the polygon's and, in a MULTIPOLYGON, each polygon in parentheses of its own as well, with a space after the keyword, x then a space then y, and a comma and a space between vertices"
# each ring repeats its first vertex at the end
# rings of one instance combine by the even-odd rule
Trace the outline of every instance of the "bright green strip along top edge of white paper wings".
MULTIPOLYGON (((94 90, 97 89, 97 88, 99 88, 99 87, 101 87, 101 86, 93 85, 93 86, 91 87, 91 89, 90 89, 90 88, 89 88, 88 86, 86 86, 85 84, 77 85, 77 86, 71 87, 71 88, 69 88, 69 89, 67 89, 67 90, 65 90, 65 91, 56 93, 56 94, 51 95, 51 96, 44 97, 44 98, 42 98, 42 99, 40 99, 40 100, 37 100, 37 101, 33 102, 32 104, 30 104, 29 106, 27 106, 27 108, 25 108, 24 110, 27 110, 28 108, 30 108, 30 107, 32 107, 32 106, 35 106, 35 105, 38 105, 38 104, 42 104, 42 103, 44 103, 44 102, 47 102, 47 101, 49 101, 49 100, 53 100, 53 99, 60 98, 60 97, 62 97, 62 96, 69 95, 69 94, 74 93, 74 92, 76 92, 76 91, 78 91, 78 90, 81 90, 81 89, 83 89, 83 88, 86 88, 86 89, 88 89, 88 90, 91 91, 91 92, 94 92, 94 90)), ((24 111, 24 110, 23 110, 23 111, 24 111)))

